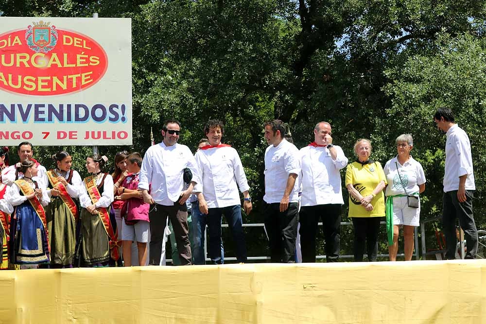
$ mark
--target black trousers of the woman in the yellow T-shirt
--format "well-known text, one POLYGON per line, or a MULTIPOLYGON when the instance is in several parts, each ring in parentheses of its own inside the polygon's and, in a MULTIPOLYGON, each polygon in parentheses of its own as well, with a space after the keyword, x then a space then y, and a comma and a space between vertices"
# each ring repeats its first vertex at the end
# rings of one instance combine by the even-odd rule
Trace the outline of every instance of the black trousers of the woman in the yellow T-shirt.
POLYGON ((376 261, 378 254, 378 233, 382 217, 353 217, 354 261, 363 261, 364 249, 368 261, 376 261))

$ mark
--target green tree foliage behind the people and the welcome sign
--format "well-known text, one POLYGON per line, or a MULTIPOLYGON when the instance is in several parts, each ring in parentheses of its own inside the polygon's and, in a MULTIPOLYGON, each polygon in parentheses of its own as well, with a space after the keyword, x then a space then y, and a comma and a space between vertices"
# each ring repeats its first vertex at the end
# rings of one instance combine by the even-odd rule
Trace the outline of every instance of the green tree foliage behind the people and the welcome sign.
MULTIPOLYGON (((194 150, 204 123, 224 120, 224 140, 240 153, 252 187, 256 208, 247 222, 263 220, 261 125, 273 118, 289 123, 298 147, 312 140, 317 121, 330 121, 335 143, 351 160, 355 140, 367 137, 382 164, 396 154, 396 136, 411 133, 428 179, 422 216, 435 217, 442 209, 445 137, 432 116, 450 106, 471 138, 477 201, 484 196, 484 0, 0 0, 0 16, 93 12, 132 18, 134 145, 128 150, 143 153, 151 127, 160 141, 168 118, 181 120, 180 142, 194 150)), ((35 154, 47 159, 58 149, 35 154)), ((100 152, 113 156, 120 149, 100 152)), ((84 171, 89 148, 69 150, 84 171)), ((484 227, 484 207, 475 208, 484 227)), ((343 241, 351 242, 351 230, 344 232, 343 241)))

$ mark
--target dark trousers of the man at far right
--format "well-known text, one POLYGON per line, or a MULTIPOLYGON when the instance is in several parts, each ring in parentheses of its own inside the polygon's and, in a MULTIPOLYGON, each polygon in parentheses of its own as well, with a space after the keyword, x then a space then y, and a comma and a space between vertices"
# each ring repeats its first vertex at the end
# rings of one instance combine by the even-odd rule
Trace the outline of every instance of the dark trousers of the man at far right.
POLYGON ((464 231, 466 239, 466 259, 476 258, 478 252, 478 230, 472 215, 472 199, 474 191, 466 190, 466 201, 459 203, 457 190, 444 192, 442 205, 442 226, 446 236, 446 258, 455 259, 457 237, 456 218, 464 231))

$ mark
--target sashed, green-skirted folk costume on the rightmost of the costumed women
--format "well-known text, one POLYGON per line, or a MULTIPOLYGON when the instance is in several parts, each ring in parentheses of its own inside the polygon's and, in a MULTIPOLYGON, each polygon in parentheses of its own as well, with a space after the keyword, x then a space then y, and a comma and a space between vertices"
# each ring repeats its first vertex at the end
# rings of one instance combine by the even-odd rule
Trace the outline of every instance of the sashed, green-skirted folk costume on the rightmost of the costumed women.
POLYGON ((81 204, 81 264, 87 267, 106 267, 110 257, 117 261, 120 258, 118 247, 121 241, 116 233, 113 202, 113 178, 107 173, 99 173, 84 179, 84 190, 80 192, 81 204), (86 207, 95 205, 96 215, 86 207))

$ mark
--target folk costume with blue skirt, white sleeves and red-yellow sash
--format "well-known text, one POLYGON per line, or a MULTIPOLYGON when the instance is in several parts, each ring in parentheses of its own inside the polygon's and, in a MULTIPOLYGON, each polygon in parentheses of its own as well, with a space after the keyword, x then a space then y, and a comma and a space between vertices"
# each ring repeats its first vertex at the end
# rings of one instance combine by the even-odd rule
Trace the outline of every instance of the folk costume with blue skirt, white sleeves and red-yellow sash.
POLYGON ((8 201, 15 207, 10 222, 10 262, 14 264, 49 262, 49 233, 43 207, 49 204, 46 188, 24 176, 12 185, 8 201), (35 188, 42 189, 40 200, 36 196, 27 199, 26 196, 34 192, 35 188))

